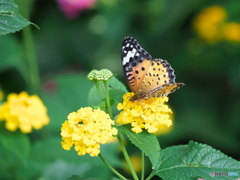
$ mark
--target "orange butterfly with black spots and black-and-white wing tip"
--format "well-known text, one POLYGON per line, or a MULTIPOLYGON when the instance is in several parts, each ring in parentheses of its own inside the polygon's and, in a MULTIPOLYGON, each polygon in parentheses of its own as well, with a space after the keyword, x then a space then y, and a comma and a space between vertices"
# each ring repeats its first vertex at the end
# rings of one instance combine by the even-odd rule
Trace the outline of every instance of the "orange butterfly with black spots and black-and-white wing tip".
POLYGON ((122 66, 128 85, 134 92, 131 101, 167 96, 185 85, 175 82, 174 70, 166 60, 152 59, 132 37, 123 40, 122 66))

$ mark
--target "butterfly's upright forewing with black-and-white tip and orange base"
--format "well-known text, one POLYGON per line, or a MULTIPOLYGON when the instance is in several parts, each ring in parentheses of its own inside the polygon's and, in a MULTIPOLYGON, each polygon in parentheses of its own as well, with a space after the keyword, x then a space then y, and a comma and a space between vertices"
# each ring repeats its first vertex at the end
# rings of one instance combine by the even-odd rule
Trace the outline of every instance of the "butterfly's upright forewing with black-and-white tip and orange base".
POLYGON ((122 44, 122 66, 128 85, 134 93, 141 90, 142 82, 151 64, 152 57, 138 42, 126 37, 122 44))

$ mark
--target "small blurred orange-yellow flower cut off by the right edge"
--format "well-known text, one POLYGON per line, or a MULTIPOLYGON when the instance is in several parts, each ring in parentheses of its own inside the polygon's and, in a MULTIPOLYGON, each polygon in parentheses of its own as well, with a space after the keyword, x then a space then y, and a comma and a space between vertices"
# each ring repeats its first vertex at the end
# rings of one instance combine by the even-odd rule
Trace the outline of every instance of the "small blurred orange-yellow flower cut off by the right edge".
POLYGON ((239 23, 227 23, 223 29, 223 36, 229 41, 240 42, 240 24, 239 23))

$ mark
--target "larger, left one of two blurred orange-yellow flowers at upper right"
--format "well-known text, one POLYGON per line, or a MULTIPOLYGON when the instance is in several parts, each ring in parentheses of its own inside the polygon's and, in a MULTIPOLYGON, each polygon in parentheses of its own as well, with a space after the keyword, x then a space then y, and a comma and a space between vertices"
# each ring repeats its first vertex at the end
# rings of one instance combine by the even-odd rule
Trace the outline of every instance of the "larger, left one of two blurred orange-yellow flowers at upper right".
POLYGON ((215 43, 222 39, 222 28, 226 18, 227 14, 223 8, 211 6, 195 18, 193 26, 199 36, 209 43, 215 43))

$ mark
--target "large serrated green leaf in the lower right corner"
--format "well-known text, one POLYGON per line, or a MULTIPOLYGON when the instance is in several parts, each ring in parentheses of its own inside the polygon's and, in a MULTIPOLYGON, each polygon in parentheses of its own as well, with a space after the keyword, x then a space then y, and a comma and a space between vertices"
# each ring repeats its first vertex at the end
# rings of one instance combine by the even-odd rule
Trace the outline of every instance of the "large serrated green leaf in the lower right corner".
POLYGON ((163 179, 237 179, 240 162, 212 147, 190 141, 188 145, 166 148, 160 152, 158 166, 152 175, 163 179), (235 173, 237 176, 211 176, 211 172, 235 173))

